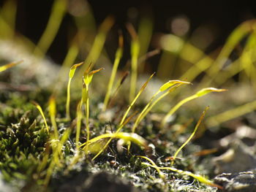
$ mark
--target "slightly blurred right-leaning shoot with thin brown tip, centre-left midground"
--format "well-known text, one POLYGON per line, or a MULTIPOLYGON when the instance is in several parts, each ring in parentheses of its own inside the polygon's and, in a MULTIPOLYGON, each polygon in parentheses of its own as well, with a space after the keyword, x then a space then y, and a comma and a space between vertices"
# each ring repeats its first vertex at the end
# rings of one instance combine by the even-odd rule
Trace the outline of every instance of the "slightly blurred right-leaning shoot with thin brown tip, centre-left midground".
POLYGON ((115 61, 114 61, 114 64, 113 64, 113 69, 112 69, 112 72, 111 72, 110 80, 108 82, 108 90, 107 90, 107 93, 105 95, 104 106, 103 106, 102 111, 105 111, 108 107, 108 101, 110 99, 110 93, 111 93, 111 90, 112 90, 112 87, 113 87, 113 82, 114 82, 115 77, 116 77, 118 64, 119 64, 119 62, 121 60, 121 57, 123 55, 123 47, 124 47, 124 37, 122 35, 120 35, 119 36, 119 47, 116 50, 116 58, 115 58, 115 61))

